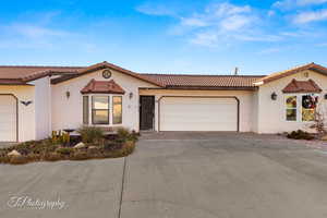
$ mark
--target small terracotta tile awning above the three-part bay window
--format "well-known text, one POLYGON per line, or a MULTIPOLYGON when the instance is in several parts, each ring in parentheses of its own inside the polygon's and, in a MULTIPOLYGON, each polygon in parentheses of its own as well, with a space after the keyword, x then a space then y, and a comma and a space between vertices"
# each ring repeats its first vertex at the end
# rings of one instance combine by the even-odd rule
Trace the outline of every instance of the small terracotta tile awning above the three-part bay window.
POLYGON ((92 80, 82 90, 82 94, 124 94, 124 89, 120 87, 113 80, 96 81, 92 80))

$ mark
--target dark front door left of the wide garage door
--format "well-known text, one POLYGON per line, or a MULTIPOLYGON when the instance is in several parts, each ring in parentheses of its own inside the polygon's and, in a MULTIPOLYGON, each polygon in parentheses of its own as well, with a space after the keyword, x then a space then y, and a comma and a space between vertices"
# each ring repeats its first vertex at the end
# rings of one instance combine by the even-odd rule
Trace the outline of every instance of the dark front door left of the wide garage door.
POLYGON ((140 129, 154 130, 155 96, 140 96, 140 129))

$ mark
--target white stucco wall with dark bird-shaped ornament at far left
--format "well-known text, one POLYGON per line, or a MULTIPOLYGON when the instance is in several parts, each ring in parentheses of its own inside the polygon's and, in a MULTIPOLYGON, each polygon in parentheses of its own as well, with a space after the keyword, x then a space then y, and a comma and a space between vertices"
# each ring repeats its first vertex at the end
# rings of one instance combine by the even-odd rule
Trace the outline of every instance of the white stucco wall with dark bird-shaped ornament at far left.
POLYGON ((35 140, 35 87, 2 85, 0 94, 12 94, 19 99, 19 141, 35 140), (33 104, 24 106, 22 100, 32 100, 33 104))

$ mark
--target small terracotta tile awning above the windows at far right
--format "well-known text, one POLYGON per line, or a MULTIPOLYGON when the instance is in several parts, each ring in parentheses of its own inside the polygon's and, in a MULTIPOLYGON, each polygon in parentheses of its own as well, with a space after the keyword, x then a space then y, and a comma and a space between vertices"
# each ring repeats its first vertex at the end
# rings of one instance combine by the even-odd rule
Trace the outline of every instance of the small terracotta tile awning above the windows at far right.
POLYGON ((283 93, 320 93, 322 88, 312 80, 292 80, 283 89, 283 93))

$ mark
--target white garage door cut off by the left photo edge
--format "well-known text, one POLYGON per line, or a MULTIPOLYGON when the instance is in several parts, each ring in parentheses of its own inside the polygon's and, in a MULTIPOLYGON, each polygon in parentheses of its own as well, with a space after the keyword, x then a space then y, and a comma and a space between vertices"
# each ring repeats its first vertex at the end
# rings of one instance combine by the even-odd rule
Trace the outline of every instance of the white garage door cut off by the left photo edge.
POLYGON ((0 95, 0 142, 16 142, 16 99, 0 95))

